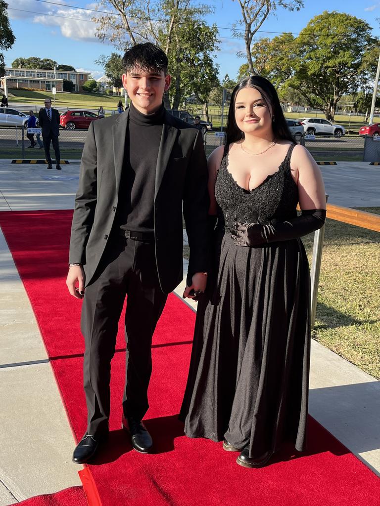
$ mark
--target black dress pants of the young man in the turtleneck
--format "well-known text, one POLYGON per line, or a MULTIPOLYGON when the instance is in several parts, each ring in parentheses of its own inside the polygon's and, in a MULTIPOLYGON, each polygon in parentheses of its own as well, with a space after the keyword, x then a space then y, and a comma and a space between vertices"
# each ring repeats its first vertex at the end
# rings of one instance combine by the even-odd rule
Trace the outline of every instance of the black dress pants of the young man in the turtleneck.
POLYGON ((91 435, 108 430, 110 362, 126 296, 123 412, 142 419, 149 407, 151 338, 167 299, 159 285, 154 242, 114 238, 107 244, 95 280, 85 289, 81 328, 86 345, 87 432, 91 435))

